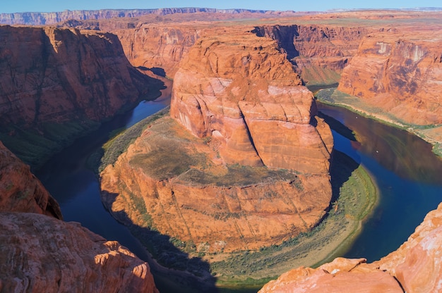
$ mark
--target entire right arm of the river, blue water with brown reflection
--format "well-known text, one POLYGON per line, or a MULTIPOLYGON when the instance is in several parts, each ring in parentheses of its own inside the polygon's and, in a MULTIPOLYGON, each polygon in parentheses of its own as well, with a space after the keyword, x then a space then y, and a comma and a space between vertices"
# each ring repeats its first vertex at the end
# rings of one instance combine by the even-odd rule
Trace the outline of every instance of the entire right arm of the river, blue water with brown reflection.
POLYGON ((344 108, 318 103, 318 109, 325 120, 332 121, 335 149, 361 163, 378 186, 378 206, 345 254, 376 261, 398 249, 442 201, 442 160, 429 144, 408 132, 344 108), (345 127, 357 141, 348 130, 342 132, 345 127))

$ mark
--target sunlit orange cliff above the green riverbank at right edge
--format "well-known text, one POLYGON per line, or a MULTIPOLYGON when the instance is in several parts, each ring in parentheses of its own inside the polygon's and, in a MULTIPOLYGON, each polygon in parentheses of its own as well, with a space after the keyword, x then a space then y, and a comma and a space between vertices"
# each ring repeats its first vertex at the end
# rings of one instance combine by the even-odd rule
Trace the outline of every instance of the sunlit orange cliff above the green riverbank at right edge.
POLYGON ((414 27, 367 35, 342 72, 338 89, 405 123, 441 124, 438 31, 414 27))

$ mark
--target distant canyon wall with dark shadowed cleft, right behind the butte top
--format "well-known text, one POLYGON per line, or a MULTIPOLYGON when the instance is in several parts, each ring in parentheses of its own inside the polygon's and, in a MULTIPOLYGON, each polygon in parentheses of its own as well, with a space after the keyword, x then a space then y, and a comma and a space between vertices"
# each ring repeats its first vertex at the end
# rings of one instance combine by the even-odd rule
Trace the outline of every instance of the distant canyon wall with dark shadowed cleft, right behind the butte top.
POLYGON ((338 25, 265 25, 253 32, 275 39, 287 52, 297 73, 307 85, 338 83, 342 69, 366 35, 364 27, 338 25))

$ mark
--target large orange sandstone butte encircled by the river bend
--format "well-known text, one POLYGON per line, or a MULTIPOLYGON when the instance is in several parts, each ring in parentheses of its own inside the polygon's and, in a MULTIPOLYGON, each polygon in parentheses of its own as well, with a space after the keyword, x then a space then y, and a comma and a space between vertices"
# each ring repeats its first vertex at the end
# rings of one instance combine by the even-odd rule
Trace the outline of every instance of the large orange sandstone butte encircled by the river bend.
POLYGON ((173 120, 101 173, 104 204, 197 251, 281 243, 330 204, 333 137, 315 114, 275 41, 250 27, 201 37, 174 76, 173 120))

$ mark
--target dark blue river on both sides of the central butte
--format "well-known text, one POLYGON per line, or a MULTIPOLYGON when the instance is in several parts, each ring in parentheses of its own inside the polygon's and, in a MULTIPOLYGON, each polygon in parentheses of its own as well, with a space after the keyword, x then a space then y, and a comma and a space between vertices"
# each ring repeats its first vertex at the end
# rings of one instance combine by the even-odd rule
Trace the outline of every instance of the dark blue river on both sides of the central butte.
MULTIPOLYGON (((131 113, 104 123, 100 130, 56 154, 36 174, 59 202, 64 220, 80 222, 106 239, 118 240, 143 260, 148 259, 148 254, 138 239, 104 209, 88 158, 101 148, 112 131, 130 127, 167 106, 167 95, 159 101, 144 101, 131 113)), ((335 119, 334 124, 342 123, 356 134, 357 141, 352 141, 333 130, 335 149, 362 163, 378 185, 379 204, 345 254, 375 261, 397 249, 426 213, 442 201, 442 160, 431 153, 429 144, 408 132, 343 108, 322 104, 318 108, 329 120, 335 119)))

